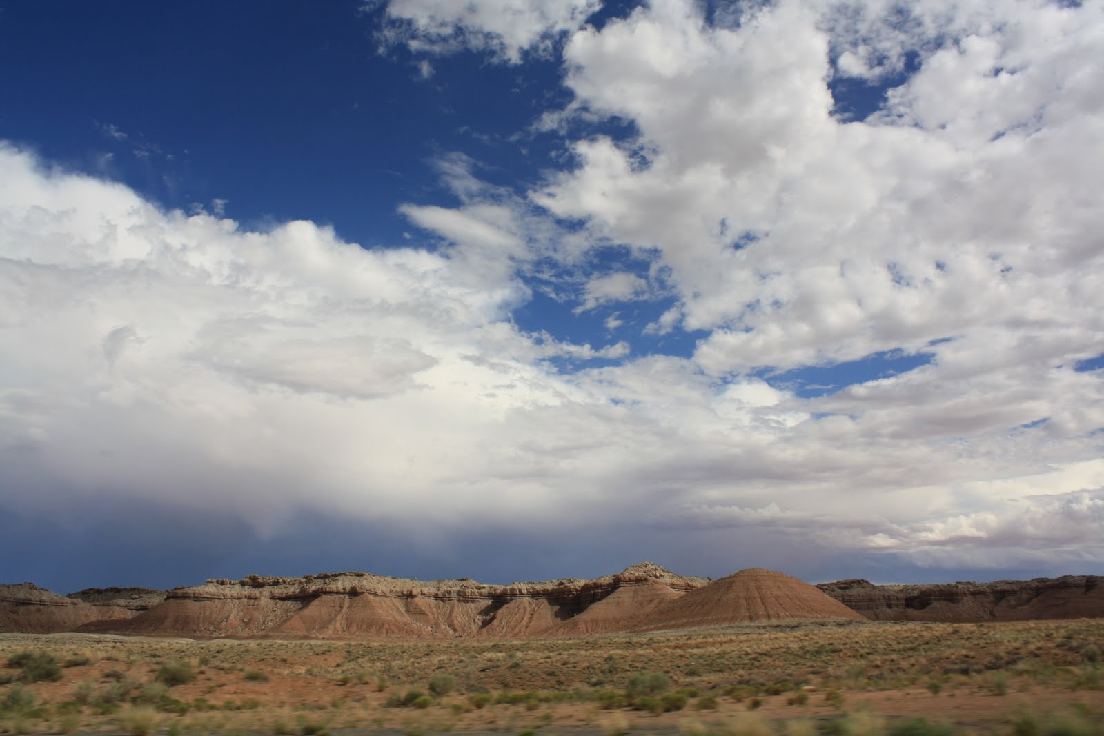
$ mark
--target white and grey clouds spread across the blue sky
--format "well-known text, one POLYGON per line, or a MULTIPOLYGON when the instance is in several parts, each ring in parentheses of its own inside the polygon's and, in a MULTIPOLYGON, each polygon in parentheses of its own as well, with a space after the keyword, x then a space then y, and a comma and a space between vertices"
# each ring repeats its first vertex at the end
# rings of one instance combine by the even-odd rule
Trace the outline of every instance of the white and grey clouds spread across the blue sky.
POLYGON ((616 530, 634 557, 697 544, 710 574, 752 538, 797 574, 1104 559, 1104 376, 1078 370, 1104 351, 1104 8, 510 8, 388 12, 416 51, 501 63, 563 34, 573 102, 543 129, 572 163, 512 192, 443 158, 459 204, 404 205, 411 247, 251 232, 0 149, 8 502, 152 499, 269 536, 301 509, 575 548, 616 530), (841 81, 910 66, 863 119, 836 109, 841 81), (563 132, 604 119, 635 132, 563 132), (647 273, 561 298, 662 292, 659 320, 613 312, 594 345, 518 327, 534 274, 611 244, 647 273), (701 337, 633 348, 670 331, 701 337), (932 361, 813 398, 769 382, 883 351, 932 361))

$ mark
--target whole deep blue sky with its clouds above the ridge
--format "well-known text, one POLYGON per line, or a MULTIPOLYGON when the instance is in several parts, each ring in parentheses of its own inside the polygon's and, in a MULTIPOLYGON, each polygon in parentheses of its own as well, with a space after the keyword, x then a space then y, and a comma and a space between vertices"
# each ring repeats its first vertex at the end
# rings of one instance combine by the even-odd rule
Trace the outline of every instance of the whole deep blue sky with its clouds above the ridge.
POLYGON ((0 583, 1100 574, 1104 3, 0 0, 0 583))

